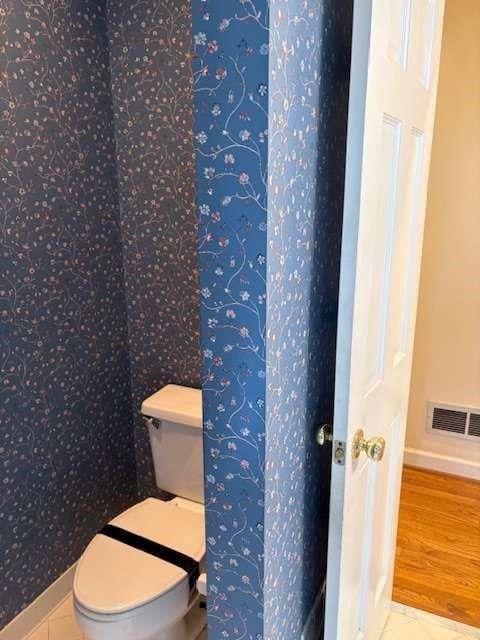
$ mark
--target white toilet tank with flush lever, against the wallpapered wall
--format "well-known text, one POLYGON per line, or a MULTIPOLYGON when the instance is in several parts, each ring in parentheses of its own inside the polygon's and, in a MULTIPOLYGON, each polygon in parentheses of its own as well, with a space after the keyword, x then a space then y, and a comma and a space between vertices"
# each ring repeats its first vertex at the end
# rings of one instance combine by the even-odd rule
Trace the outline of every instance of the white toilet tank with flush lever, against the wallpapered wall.
POLYGON ((142 403, 157 486, 204 502, 202 392, 169 384, 142 403))

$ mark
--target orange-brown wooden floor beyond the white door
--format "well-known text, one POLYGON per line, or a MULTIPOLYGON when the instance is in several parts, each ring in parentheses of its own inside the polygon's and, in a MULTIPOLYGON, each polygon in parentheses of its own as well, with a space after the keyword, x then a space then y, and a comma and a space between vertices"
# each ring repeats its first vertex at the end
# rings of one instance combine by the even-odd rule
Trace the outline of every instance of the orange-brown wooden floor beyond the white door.
POLYGON ((480 627, 480 482, 405 467, 393 599, 480 627))

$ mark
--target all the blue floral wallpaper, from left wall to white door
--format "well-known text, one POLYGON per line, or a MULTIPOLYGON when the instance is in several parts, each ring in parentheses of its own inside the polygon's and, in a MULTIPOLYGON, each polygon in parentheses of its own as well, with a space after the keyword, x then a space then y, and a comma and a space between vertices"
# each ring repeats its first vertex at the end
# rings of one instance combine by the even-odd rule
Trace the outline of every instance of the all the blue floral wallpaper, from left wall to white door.
POLYGON ((300 637, 350 4, 0 3, 0 627, 156 492, 138 411, 175 382, 204 390, 209 640, 300 637))

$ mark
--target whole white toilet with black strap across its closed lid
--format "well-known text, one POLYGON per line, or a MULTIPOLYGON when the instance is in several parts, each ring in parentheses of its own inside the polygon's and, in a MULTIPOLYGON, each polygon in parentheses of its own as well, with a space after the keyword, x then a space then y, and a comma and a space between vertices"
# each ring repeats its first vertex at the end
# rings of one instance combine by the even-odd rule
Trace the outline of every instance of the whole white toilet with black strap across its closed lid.
POLYGON ((205 626, 201 391, 168 385, 145 400, 155 476, 177 496, 148 498, 90 542, 73 585, 88 640, 193 640, 205 626))

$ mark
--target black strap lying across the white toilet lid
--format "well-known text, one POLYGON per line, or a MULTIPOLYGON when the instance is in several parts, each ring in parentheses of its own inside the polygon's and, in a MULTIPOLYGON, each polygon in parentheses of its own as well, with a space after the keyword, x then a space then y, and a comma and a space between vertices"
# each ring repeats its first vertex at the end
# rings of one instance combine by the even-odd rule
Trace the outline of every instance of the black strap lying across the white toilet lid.
POLYGON ((188 575, 190 589, 195 587, 200 575, 200 565, 194 558, 113 524, 105 525, 98 533, 183 569, 188 575))

